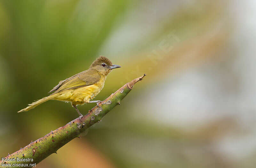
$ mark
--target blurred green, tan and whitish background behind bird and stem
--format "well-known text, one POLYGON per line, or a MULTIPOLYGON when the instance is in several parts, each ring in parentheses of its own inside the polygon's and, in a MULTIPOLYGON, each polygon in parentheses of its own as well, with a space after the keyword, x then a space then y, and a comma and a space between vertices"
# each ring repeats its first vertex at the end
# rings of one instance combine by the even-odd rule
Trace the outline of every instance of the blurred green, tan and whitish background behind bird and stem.
POLYGON ((75 119, 59 101, 17 111, 105 55, 122 68, 97 100, 147 76, 82 139, 36 167, 255 167, 255 7, 0 0, 0 156, 75 119))

